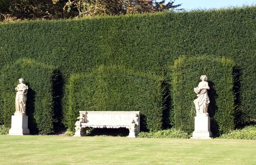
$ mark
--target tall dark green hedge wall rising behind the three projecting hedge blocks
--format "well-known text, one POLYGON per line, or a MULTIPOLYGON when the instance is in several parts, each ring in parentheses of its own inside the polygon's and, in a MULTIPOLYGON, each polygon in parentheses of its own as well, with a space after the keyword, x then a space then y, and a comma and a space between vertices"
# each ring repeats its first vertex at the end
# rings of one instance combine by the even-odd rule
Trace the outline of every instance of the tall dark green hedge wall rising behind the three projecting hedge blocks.
MULTIPOLYGON (((166 76, 180 55, 224 56, 236 63, 242 123, 256 119, 255 29, 255 6, 1 23, 0 69, 31 58, 58 68, 67 84, 71 74, 101 65, 166 76)), ((68 109, 65 103, 61 105, 68 109)))

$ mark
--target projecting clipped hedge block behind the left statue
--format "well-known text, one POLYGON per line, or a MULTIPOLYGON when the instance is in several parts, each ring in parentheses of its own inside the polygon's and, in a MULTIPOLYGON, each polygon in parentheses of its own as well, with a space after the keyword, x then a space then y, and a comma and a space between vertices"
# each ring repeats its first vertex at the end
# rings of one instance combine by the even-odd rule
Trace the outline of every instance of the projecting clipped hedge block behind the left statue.
POLYGON ((29 90, 26 95, 26 115, 29 116, 30 132, 48 134, 53 132, 52 81, 54 68, 31 59, 19 59, 1 70, 0 115, 1 122, 11 125, 15 113, 15 87, 23 78, 29 90))

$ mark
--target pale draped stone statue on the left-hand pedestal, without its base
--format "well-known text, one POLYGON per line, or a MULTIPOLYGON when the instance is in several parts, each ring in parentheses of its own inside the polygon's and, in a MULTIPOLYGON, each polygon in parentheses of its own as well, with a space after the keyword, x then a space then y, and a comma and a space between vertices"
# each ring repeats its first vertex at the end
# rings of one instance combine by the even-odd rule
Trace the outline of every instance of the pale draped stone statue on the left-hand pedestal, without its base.
POLYGON ((20 84, 17 85, 15 90, 17 90, 16 98, 15 98, 15 113, 24 113, 26 112, 26 98, 25 95, 27 94, 27 91, 29 89, 26 84, 23 84, 24 80, 23 78, 19 79, 20 84))

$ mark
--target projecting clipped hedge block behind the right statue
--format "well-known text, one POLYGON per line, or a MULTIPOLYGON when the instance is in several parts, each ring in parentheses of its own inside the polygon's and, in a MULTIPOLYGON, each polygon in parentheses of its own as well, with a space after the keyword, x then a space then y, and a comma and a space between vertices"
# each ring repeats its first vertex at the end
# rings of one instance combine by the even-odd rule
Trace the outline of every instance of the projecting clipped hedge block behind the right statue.
POLYGON ((176 128, 192 133, 194 116, 193 101, 197 98, 194 88, 198 86, 201 75, 207 75, 210 89, 208 113, 211 118, 211 131, 215 135, 227 133, 234 128, 235 105, 233 93, 234 62, 227 58, 208 56, 180 57, 174 62, 170 85, 172 95, 172 122, 176 128))

